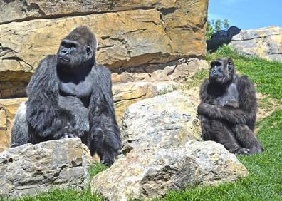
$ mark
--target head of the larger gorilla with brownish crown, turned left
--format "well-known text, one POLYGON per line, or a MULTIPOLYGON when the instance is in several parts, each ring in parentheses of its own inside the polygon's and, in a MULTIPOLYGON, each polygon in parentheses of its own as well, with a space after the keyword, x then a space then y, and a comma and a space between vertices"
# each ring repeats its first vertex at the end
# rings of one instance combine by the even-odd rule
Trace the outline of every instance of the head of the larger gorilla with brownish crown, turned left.
POLYGON ((95 63, 96 39, 88 28, 74 29, 61 42, 57 53, 57 62, 63 70, 90 66, 95 63))

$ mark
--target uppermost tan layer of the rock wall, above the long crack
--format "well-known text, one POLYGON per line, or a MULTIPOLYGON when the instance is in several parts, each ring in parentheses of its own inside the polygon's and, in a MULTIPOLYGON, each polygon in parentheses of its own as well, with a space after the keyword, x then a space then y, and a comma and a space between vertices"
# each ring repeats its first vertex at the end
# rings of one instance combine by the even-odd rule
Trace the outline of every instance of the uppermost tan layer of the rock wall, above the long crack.
MULTIPOLYGON (((187 1, 187 7, 194 6, 194 14, 202 11, 197 6, 207 6, 207 1, 187 1)), ((164 14, 174 12, 179 1, 168 0, 145 0, 145 1, 125 1, 125 0, 88 0, 88 1, 46 1, 46 0, 14 0, 1 1, 0 6, 3 13, 0 16, 0 24, 10 21, 25 21, 28 19, 58 18, 61 16, 77 16, 81 14, 99 14, 104 12, 125 11, 134 9, 160 9, 164 14)), ((185 9, 185 8, 182 8, 185 9)), ((194 18, 192 18, 194 20, 194 18)))

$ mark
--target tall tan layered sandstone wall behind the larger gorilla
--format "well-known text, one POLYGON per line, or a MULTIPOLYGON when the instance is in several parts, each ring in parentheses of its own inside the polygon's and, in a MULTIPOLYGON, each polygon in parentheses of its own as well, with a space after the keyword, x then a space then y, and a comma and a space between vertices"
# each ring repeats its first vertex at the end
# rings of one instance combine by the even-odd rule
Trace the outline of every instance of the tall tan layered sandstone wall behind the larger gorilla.
POLYGON ((44 56, 56 53, 61 39, 76 26, 89 26, 98 38, 98 63, 113 71, 120 120, 127 105, 170 90, 207 67, 207 4, 207 0, 0 1, 0 151, 9 146, 15 104, 23 102, 34 69, 44 56))

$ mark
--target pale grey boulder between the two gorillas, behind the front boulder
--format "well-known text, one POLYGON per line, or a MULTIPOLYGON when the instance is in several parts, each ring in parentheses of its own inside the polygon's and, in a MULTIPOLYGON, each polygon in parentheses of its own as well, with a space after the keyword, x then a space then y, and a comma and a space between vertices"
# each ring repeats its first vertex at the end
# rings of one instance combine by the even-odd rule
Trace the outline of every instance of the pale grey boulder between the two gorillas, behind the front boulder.
POLYGON ((130 105, 121 121, 122 153, 132 148, 177 148, 200 140, 197 105, 179 91, 130 105))

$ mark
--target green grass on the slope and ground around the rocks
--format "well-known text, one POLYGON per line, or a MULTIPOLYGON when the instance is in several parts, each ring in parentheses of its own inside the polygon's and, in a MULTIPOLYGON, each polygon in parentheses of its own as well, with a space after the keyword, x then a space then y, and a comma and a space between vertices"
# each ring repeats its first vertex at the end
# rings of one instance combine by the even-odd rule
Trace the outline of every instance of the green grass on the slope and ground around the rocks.
MULTIPOLYGON (((232 51, 228 46, 219 48, 215 53, 207 54, 207 60, 230 56, 236 69, 248 75, 256 83, 256 90, 267 95, 262 105, 267 107, 271 100, 282 100, 282 63, 266 61, 261 58, 245 57, 232 51)), ((200 71, 187 83, 199 86, 207 77, 207 70, 200 71)), ((264 107, 263 106, 263 107, 264 107)), ((258 122, 258 138, 265 152, 252 156, 238 156, 249 170, 249 176, 234 183, 217 187, 187 187, 184 190, 168 192, 162 200, 282 200, 282 110, 258 122)), ((90 175, 105 170, 103 165, 92 165, 90 175)), ((0 199, 1 200, 1 199, 0 199)), ((91 195, 90 188, 77 190, 51 190, 34 197, 21 197, 16 200, 103 200, 91 195)))

